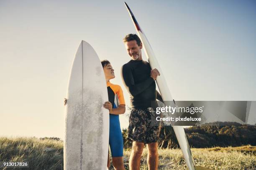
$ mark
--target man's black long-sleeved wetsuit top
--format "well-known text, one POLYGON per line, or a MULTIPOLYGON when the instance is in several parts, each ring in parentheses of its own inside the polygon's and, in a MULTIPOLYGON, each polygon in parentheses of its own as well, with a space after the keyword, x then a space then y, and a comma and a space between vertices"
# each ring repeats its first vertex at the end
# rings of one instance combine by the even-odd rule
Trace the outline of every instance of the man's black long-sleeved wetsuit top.
POLYGON ((143 60, 131 60, 123 65, 121 76, 124 85, 130 92, 131 106, 134 108, 151 107, 151 101, 155 101, 156 83, 150 77, 151 67, 143 60))

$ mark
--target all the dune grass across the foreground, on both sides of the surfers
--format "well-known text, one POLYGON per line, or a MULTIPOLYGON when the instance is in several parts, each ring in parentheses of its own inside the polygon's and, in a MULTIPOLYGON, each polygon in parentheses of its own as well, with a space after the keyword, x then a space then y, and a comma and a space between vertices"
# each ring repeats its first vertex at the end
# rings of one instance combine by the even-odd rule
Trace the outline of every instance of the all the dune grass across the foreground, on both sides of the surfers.
MULTIPOLYGON (((130 153, 130 149, 124 151, 124 162, 127 170, 130 153)), ((192 148, 192 154, 195 165, 212 170, 256 169, 256 147, 254 146, 192 148)), ((141 170, 147 170, 146 155, 145 148, 141 157, 141 170)), ((63 142, 37 138, 0 137, 0 160, 11 162, 25 162, 27 160, 29 168, 22 168, 22 170, 62 170, 63 142)), ((13 168, 3 170, 10 169, 13 168)), ((110 167, 110 170, 113 170, 113 167, 110 167)), ((159 170, 187 170, 181 150, 159 150, 159 170)))

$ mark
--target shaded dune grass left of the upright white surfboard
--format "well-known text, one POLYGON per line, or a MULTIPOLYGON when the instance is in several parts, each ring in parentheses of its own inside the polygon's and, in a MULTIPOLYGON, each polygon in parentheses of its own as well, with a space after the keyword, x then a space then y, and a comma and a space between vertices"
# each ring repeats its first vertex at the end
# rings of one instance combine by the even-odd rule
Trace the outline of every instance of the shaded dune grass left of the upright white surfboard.
MULTIPOLYGON (((63 142, 38 138, 0 137, 0 160, 29 162, 29 168, 15 168, 17 170, 62 170, 63 142)), ((11 169, 14 168, 3 170, 11 169)))

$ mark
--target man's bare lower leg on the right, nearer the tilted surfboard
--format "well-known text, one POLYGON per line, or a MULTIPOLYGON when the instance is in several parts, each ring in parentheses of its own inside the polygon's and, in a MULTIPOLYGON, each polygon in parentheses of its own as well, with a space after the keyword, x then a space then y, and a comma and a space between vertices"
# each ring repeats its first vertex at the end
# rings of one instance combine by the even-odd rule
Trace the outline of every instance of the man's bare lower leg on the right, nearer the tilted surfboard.
POLYGON ((148 170, 157 170, 158 168, 158 143, 148 143, 148 170))

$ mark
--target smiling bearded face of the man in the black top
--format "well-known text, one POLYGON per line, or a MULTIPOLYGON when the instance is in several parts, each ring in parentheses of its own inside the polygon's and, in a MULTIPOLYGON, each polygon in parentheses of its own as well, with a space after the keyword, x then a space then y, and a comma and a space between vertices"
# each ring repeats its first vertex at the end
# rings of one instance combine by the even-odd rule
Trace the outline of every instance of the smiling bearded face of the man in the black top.
POLYGON ((141 49, 142 43, 138 46, 136 40, 125 42, 125 47, 132 60, 142 60, 141 49))

